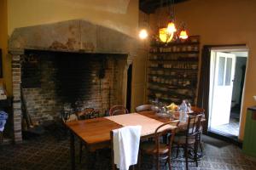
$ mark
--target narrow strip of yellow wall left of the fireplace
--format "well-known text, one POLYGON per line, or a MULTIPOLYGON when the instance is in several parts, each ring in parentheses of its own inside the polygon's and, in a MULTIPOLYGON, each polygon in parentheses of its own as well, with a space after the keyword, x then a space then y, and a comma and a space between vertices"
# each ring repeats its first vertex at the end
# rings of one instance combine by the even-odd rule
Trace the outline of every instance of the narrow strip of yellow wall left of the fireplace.
POLYGON ((7 56, 8 26, 7 26, 7 0, 0 1, 0 48, 3 50, 3 80, 8 94, 11 94, 11 60, 7 56))

